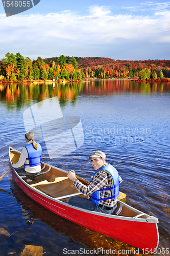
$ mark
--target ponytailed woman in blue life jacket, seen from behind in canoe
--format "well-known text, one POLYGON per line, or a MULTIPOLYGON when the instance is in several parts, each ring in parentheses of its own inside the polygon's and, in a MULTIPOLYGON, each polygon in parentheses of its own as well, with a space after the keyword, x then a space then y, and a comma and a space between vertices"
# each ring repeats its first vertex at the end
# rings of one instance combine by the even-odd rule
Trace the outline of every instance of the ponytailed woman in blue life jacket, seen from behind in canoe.
POLYGON ((34 134, 28 132, 25 134, 27 145, 22 148, 19 160, 12 167, 15 168, 18 174, 26 176, 34 176, 41 172, 41 152, 40 144, 34 141, 34 134), (24 167, 19 168, 24 164, 24 167))

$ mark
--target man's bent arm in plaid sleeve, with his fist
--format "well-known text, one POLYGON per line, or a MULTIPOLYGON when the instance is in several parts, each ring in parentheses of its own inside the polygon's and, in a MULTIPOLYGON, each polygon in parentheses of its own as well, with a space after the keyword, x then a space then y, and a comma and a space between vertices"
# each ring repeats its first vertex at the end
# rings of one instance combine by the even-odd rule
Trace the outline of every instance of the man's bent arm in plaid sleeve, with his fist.
POLYGON ((83 195, 88 196, 94 193, 95 191, 103 188, 107 185, 107 174, 105 172, 100 172, 100 174, 89 184, 84 185, 80 180, 76 178, 74 171, 68 172, 68 178, 73 181, 74 186, 79 192, 83 195), (72 173, 72 174, 71 174, 72 173))

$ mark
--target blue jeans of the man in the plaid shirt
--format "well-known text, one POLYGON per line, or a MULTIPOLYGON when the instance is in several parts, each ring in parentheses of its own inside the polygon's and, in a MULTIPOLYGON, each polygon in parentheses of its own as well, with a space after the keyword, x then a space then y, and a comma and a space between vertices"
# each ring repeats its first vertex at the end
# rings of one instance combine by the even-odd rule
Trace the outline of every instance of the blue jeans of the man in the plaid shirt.
POLYGON ((78 198, 78 197, 71 197, 68 200, 68 204, 72 206, 80 207, 83 209, 87 209, 87 210, 102 212, 103 214, 112 214, 112 212, 114 212, 117 208, 117 203, 116 203, 113 206, 113 209, 111 210, 102 209, 102 207, 100 207, 99 205, 96 205, 93 201, 87 200, 84 198, 78 198))

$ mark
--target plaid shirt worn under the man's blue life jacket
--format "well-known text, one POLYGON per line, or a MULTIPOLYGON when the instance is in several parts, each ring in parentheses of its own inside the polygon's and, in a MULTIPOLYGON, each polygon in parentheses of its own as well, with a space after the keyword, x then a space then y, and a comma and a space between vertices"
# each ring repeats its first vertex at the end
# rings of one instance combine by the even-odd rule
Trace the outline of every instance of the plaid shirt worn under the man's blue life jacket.
MULTIPOLYGON (((122 178, 119 176, 119 183, 122 182, 122 178)), ((112 179, 110 174, 106 173, 104 170, 101 170, 99 174, 97 174, 94 180, 88 185, 84 185, 81 181, 76 179, 73 183, 77 190, 79 190, 83 195, 89 196, 93 194, 95 191, 101 188, 112 187, 112 179)), ((107 198, 112 196, 112 190, 99 191, 100 198, 107 198)), ((113 207, 117 203, 117 199, 108 199, 99 201, 99 204, 104 204, 108 207, 113 207)))

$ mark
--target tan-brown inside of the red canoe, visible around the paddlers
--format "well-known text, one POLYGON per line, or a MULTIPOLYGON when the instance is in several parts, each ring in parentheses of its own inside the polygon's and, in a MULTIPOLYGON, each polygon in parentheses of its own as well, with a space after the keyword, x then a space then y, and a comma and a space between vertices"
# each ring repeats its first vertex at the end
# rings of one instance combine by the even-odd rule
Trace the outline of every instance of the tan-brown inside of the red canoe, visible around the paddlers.
MULTIPOLYGON (((11 148, 11 151, 10 151, 11 162, 16 163, 19 160, 19 156, 20 156, 20 152, 14 151, 13 148, 11 148)), ((41 163, 41 168, 43 168, 43 167, 44 167, 44 163, 41 163)), ((48 169, 49 169, 49 165, 46 164, 45 167, 42 169, 42 172, 44 173, 43 175, 35 177, 34 180, 32 180, 31 182, 29 182, 29 181, 27 182, 27 179, 24 179, 24 180, 28 184, 33 185, 33 184, 37 184, 42 181, 46 181, 47 183, 54 182, 57 177, 67 177, 66 172, 64 172, 61 169, 58 169, 54 166, 51 166, 51 169, 47 173, 45 173, 48 169)), ((80 177, 78 177, 78 179, 85 185, 89 184, 88 181, 85 181, 84 179, 82 179, 80 177)), ((69 179, 64 179, 62 181, 59 181, 59 182, 56 182, 53 184, 36 185, 36 186, 34 186, 34 188, 36 188, 37 190, 41 191, 45 195, 48 195, 52 198, 68 196, 64 199, 60 199, 62 202, 65 202, 65 203, 68 202, 68 200, 70 198, 69 195, 78 193, 78 190, 75 188, 75 186, 72 184, 72 181, 69 179)), ((122 197, 122 201, 125 202, 126 195, 125 196, 124 195, 125 195, 124 193, 120 193, 119 200, 121 200, 121 197, 122 197)), ((78 195, 77 197, 88 199, 88 196, 84 196, 82 194, 78 195)), ((117 210, 118 210, 118 208, 119 208, 119 203, 118 203, 117 210)), ((138 210, 129 209, 125 205, 123 205, 122 211, 119 214, 119 216, 125 216, 125 217, 135 217, 137 215, 139 215, 138 210)), ((143 216, 141 216, 139 218, 147 218, 147 217, 148 217, 148 215, 144 214, 143 216)))

